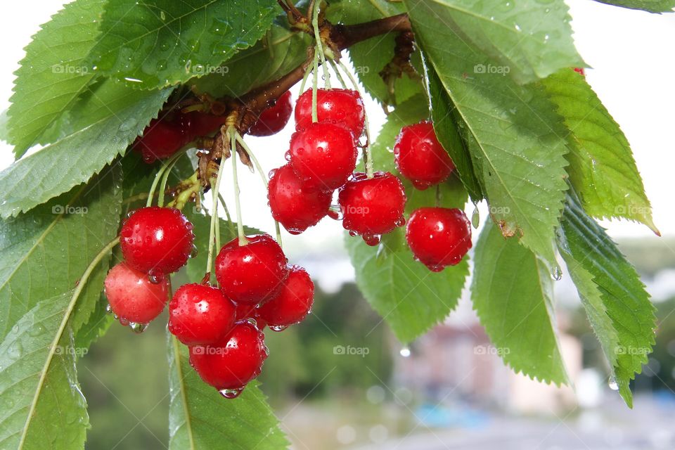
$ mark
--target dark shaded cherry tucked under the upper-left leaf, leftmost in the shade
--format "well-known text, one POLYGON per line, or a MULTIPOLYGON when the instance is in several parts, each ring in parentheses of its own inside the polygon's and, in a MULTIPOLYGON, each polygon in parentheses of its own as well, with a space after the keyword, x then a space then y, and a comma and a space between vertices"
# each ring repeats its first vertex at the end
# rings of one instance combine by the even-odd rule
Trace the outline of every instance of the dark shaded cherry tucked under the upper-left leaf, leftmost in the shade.
POLYGON ((158 118, 150 121, 132 148, 141 152, 143 161, 150 164, 155 160, 169 158, 188 141, 179 122, 158 118))

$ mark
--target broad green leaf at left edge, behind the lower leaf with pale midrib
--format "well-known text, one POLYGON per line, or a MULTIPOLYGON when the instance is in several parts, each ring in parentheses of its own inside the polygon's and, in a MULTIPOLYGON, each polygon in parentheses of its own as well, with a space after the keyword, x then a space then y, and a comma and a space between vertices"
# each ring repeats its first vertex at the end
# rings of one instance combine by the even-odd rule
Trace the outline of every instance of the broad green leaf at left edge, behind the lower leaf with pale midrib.
MULTIPOLYGON (((71 290, 89 261, 117 235, 119 176, 117 169, 108 171, 31 212, 0 221, 0 339, 38 302, 71 290)), ((107 271, 104 259, 77 304, 75 331, 89 320, 107 271)))

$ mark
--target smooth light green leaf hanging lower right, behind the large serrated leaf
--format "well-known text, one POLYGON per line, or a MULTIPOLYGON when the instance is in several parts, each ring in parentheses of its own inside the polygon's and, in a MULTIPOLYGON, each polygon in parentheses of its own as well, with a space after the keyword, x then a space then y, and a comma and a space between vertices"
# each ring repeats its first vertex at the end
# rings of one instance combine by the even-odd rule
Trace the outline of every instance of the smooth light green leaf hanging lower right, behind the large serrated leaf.
POLYGON ((476 245, 471 292, 480 323, 506 364, 546 383, 569 383, 554 330, 551 273, 491 221, 476 245))

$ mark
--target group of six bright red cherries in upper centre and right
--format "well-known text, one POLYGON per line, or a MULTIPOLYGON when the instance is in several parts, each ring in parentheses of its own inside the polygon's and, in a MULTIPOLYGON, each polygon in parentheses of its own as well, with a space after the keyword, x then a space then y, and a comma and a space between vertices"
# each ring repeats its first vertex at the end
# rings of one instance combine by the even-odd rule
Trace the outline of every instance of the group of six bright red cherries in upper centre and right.
MULTIPOLYGON (((312 120, 311 89, 295 105, 295 133, 288 164, 270 173, 269 206, 276 221, 292 234, 323 217, 342 217, 342 226, 368 245, 403 226, 406 194, 390 172, 354 172, 364 132, 364 103, 357 91, 318 89, 312 120), (331 210, 338 191, 340 214, 331 210)), ((401 129, 394 146, 399 172, 417 189, 446 181, 454 170, 430 122, 401 129)), ((432 271, 458 264, 471 248, 471 229, 463 211, 423 207, 411 214, 406 240, 413 255, 432 271)))

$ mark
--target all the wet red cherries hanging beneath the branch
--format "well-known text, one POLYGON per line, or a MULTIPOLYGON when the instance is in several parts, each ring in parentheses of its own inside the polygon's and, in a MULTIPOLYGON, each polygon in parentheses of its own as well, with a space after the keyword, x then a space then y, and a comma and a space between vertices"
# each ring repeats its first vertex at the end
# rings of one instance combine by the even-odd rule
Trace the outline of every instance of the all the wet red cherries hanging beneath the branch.
MULTIPOLYGON (((295 133, 288 163, 270 172, 269 206, 276 221, 298 234, 323 217, 342 219, 352 236, 377 245, 380 236, 403 226, 406 194, 390 172, 354 172, 364 134, 364 103, 357 91, 312 89, 295 105, 295 133), (338 207, 331 205, 338 191, 338 207)), ((248 130, 254 136, 281 131, 293 115, 290 92, 264 110, 248 130)), ((174 155, 198 136, 212 134, 224 118, 200 111, 174 112, 150 123, 134 143, 143 160, 174 155)), ((367 146, 367 143, 365 144, 367 146)), ((417 189, 445 181, 454 170, 432 124, 401 129, 394 146, 399 172, 417 189)), ((415 210, 406 225, 413 255, 432 271, 458 264, 471 248, 464 212, 443 207, 415 210)), ((179 210, 148 206, 122 224, 124 261, 105 278, 108 311, 123 325, 142 331, 167 303, 169 274, 193 255, 193 226, 179 210)), ((169 302, 169 331, 189 348, 190 363, 209 385, 237 397, 267 357, 262 330, 281 331, 311 311, 314 283, 300 266, 290 266, 280 245, 267 234, 226 243, 215 259, 217 286, 210 274, 176 290, 169 302)))

